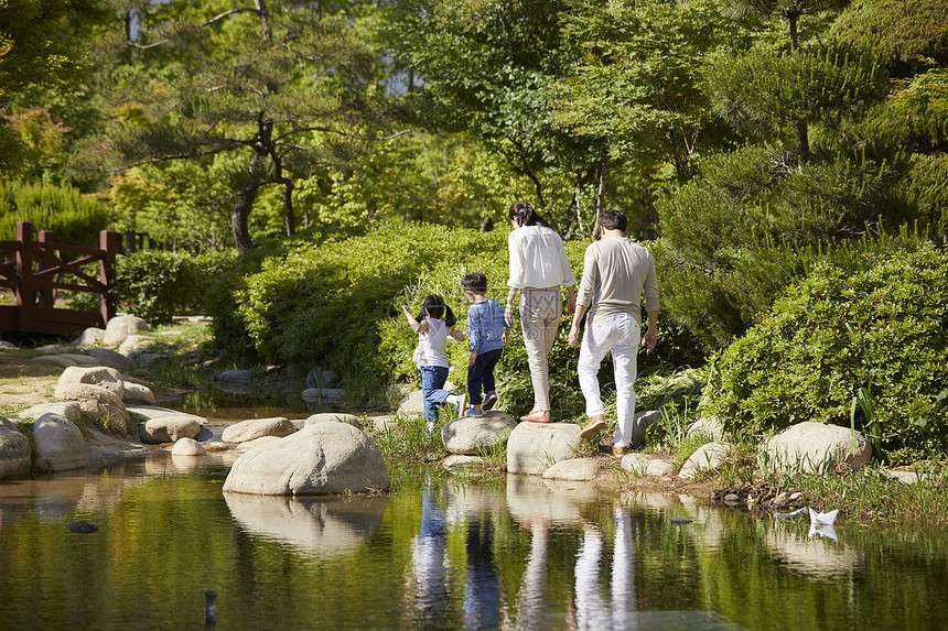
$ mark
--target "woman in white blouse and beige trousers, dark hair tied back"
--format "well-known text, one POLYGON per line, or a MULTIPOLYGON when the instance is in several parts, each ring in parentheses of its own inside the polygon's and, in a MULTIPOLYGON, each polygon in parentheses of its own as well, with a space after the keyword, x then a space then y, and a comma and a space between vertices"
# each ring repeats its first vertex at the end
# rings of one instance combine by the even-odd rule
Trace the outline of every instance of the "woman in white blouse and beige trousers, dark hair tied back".
POLYGON ((550 385, 547 356, 553 348, 557 328, 563 309, 560 285, 569 293, 568 308, 575 308, 577 283, 563 241, 550 228, 542 226, 534 208, 517 202, 510 206, 514 229, 507 238, 510 253, 510 278, 507 284, 505 318, 514 322, 514 300, 520 294, 520 323, 524 327, 524 346, 534 382, 534 410, 523 421, 550 423, 550 385))

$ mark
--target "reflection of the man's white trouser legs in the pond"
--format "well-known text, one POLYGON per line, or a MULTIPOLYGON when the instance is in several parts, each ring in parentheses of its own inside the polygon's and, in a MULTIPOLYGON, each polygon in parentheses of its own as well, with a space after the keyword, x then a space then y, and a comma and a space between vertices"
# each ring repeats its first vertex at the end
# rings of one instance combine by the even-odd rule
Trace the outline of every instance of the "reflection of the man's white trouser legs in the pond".
POLYGON ((615 542, 613 544, 611 605, 600 591, 599 573, 603 535, 591 526, 583 533, 577 559, 577 625, 580 629, 635 629, 634 550, 627 511, 613 509, 615 542))

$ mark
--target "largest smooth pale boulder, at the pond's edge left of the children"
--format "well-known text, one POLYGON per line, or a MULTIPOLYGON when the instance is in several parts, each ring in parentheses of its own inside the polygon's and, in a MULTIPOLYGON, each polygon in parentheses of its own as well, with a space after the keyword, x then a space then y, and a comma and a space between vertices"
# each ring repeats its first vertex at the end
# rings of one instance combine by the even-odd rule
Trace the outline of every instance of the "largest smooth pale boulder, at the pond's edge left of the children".
POLYGON ((347 423, 319 423, 237 458, 224 491, 316 496, 388 489, 378 446, 347 423))

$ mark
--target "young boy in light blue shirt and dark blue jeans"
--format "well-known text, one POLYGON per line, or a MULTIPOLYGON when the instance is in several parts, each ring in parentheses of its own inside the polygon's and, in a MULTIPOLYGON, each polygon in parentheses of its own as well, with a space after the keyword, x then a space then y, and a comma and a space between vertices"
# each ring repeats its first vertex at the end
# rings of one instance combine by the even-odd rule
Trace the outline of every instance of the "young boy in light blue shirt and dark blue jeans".
POLYGON ((494 367, 500 359, 500 351, 507 341, 507 325, 504 322, 504 307, 487 297, 487 276, 481 272, 467 274, 461 286, 471 303, 467 309, 467 338, 471 340, 471 357, 467 359, 467 395, 471 409, 466 416, 481 416, 482 410, 491 410, 497 404, 494 391, 494 367), (481 403, 481 392, 484 403, 481 403))

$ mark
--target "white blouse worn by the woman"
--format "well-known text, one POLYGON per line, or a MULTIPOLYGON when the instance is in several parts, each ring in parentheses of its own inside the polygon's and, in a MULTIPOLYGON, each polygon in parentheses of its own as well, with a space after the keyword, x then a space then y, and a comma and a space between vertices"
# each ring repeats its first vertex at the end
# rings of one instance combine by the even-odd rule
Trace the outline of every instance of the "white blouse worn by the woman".
POLYGON ((507 249, 510 252, 509 286, 545 290, 577 284, 563 240, 550 228, 537 225, 510 230, 507 249))

